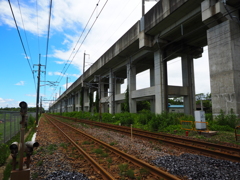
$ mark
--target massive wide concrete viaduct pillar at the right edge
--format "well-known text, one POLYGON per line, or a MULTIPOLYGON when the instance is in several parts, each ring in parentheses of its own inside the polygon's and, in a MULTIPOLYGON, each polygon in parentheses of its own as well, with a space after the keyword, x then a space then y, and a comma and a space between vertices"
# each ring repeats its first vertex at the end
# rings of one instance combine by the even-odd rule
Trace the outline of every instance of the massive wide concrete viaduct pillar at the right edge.
POLYGON ((240 115, 240 26, 225 21, 207 31, 213 114, 240 115))

